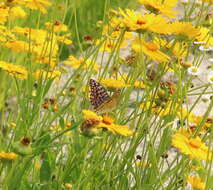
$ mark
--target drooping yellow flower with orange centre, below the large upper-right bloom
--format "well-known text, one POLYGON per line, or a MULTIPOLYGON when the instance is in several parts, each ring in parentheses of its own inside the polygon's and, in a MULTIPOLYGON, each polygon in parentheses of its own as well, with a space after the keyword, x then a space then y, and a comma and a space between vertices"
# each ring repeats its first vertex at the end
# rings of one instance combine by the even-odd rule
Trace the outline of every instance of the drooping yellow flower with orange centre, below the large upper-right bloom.
POLYGON ((145 42, 136 38, 132 41, 132 49, 137 53, 144 53, 150 59, 159 62, 168 62, 170 57, 160 51, 160 46, 155 42, 145 42))

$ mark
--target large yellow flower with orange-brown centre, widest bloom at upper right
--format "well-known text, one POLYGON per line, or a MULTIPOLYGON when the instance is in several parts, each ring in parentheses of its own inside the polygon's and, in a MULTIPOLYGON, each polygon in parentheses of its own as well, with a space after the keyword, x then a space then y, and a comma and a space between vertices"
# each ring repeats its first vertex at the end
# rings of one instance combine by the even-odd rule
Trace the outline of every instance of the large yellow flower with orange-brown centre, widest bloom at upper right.
POLYGON ((120 15, 123 17, 121 23, 131 31, 151 31, 159 34, 170 34, 168 23, 165 18, 155 14, 141 14, 134 10, 120 9, 120 15))

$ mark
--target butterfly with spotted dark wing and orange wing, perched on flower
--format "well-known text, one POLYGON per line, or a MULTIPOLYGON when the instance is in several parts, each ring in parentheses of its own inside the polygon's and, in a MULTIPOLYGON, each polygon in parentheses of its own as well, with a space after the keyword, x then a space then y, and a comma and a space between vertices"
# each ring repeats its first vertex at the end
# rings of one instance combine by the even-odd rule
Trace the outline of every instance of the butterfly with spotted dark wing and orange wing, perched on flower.
POLYGON ((109 113, 117 107, 120 90, 109 96, 107 90, 94 79, 89 81, 90 102, 98 114, 109 113))

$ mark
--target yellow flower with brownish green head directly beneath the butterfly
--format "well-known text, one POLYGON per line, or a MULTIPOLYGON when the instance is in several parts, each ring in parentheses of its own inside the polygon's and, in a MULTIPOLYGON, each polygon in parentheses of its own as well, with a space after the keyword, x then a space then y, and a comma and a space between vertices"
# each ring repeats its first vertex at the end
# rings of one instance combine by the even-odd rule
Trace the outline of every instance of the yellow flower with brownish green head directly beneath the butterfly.
POLYGON ((84 134, 98 134, 100 129, 107 129, 112 133, 116 133, 122 136, 132 136, 133 131, 125 125, 114 124, 114 119, 109 116, 98 116, 96 113, 90 110, 83 110, 83 118, 85 122, 80 126, 81 132, 84 134))

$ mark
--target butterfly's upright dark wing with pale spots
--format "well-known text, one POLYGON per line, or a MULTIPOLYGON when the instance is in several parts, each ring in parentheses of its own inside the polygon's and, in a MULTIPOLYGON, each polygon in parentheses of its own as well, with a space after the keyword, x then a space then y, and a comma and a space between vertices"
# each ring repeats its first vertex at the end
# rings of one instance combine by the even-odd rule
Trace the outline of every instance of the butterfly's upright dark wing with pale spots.
POLYGON ((110 100, 110 96, 107 90, 97 81, 90 79, 90 102, 94 109, 104 104, 106 101, 110 100))

